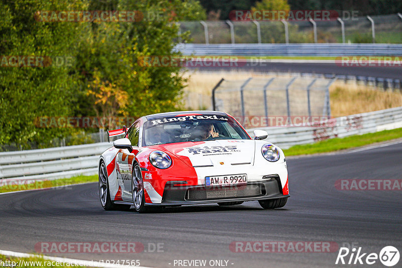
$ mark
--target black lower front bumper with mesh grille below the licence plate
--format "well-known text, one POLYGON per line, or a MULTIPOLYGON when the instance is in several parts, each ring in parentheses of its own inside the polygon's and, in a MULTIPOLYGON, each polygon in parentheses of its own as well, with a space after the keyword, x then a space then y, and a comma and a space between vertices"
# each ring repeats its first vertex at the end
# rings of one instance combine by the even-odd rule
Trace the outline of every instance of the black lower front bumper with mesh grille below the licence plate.
POLYGON ((287 197, 289 195, 283 195, 279 176, 276 175, 263 181, 248 182, 245 185, 219 187, 186 186, 179 185, 178 182, 168 182, 163 191, 162 202, 145 205, 176 206, 287 197))

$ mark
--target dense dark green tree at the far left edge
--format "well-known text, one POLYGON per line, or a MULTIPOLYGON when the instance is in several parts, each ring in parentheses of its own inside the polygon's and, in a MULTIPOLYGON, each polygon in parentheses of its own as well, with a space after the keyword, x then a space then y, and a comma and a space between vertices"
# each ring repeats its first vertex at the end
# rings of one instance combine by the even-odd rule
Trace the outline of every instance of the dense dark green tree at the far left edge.
MULTIPOLYGON (((9 67, 10 56, 73 57, 79 24, 35 20, 38 11, 75 10, 80 2, 18 0, 0 2, 0 144, 49 142, 66 128, 35 126, 39 116, 64 116, 70 111, 73 81, 65 64, 48 67, 9 67)), ((38 64, 40 65, 40 64, 38 64)), ((23 146, 23 148, 26 148, 23 146)))

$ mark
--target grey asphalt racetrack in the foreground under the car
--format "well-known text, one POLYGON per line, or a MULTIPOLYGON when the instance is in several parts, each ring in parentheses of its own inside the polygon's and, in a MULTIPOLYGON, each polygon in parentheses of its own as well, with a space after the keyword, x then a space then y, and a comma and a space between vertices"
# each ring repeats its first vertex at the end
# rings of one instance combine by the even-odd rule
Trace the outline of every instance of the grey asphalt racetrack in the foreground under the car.
MULTIPOLYGON (((44 241, 137 241, 147 252, 46 255, 138 259, 149 267, 178 267, 175 259, 227 260, 228 267, 352 266, 335 265, 339 248, 324 253, 233 252, 229 245, 234 241, 328 241, 338 247, 354 243, 362 252, 377 254, 392 245, 401 252, 402 191, 341 191, 335 183, 402 179, 402 143, 289 158, 287 163, 290 198, 275 210, 246 202, 166 208, 157 214, 108 212, 100 206, 96 183, 0 195, 0 249, 34 252, 35 244, 44 241), (161 252, 148 252, 156 243, 163 243, 161 252)), ((385 267, 379 260, 369 266, 385 267)))

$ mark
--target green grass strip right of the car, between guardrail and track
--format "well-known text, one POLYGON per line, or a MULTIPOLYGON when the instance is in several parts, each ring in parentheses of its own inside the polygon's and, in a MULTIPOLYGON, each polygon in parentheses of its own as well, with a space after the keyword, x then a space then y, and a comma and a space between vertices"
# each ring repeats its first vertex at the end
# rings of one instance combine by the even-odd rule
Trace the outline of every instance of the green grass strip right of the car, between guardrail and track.
POLYGON ((383 130, 375 133, 335 138, 315 144, 296 145, 283 150, 285 156, 311 155, 317 153, 336 152, 344 149, 402 138, 402 128, 383 130))

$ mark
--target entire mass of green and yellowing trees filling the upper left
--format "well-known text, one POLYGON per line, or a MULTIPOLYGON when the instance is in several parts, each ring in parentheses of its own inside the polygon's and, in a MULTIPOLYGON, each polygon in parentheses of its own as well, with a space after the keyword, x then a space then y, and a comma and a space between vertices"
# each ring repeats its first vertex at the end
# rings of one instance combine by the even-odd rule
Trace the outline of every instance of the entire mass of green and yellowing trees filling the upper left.
MULTIPOLYGON (((72 66, 0 67, 0 145, 23 148, 78 131, 36 127, 41 116, 138 117, 177 109, 185 83, 181 68, 144 67, 138 61, 179 55, 173 52, 179 38, 175 22, 206 18, 195 0, 4 0, 0 16, 0 56, 74 58, 72 66), (38 11, 69 10, 140 11, 145 17, 138 22, 35 20, 38 11)), ((187 40, 188 33, 181 38, 187 40)))

